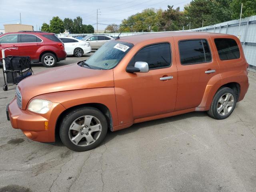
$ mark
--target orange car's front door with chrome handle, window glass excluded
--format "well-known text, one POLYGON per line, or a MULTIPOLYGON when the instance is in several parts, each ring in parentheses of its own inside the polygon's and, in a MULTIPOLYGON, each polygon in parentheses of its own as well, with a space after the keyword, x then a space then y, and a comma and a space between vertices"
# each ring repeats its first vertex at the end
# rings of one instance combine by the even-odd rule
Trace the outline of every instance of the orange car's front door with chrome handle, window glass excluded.
POLYGON ((120 124, 132 121, 127 118, 130 113, 133 114, 134 120, 172 112, 175 108, 178 78, 175 56, 171 56, 170 42, 145 46, 134 55, 128 66, 134 66, 137 61, 147 62, 149 72, 123 73, 114 68, 120 124), (132 112, 128 114, 130 107, 132 112))

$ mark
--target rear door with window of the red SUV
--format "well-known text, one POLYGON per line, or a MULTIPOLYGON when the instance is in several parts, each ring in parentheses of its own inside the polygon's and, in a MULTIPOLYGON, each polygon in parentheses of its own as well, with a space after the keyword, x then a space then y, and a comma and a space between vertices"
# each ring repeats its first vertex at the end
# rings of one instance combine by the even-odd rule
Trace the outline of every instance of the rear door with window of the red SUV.
POLYGON ((43 40, 33 34, 20 34, 20 56, 30 56, 38 61, 38 50, 44 46, 43 40))

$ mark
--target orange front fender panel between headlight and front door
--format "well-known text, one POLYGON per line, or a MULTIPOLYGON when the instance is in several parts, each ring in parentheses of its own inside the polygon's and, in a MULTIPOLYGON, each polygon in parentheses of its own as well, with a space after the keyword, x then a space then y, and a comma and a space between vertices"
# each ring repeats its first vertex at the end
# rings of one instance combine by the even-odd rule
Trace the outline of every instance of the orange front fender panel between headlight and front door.
MULTIPOLYGON (((53 92, 36 96, 33 99, 35 98, 60 103, 64 107, 64 110, 82 104, 103 104, 110 110, 113 126, 118 125, 116 98, 113 87, 53 92)), ((64 110, 60 111, 58 116, 60 116, 64 110)))

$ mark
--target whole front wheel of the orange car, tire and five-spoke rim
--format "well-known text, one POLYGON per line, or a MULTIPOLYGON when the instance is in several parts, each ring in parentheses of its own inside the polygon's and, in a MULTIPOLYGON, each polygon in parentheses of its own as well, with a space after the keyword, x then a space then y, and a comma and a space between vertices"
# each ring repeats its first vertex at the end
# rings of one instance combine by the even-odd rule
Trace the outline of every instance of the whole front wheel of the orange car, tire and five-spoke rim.
POLYGON ((60 139, 69 149, 82 152, 96 148, 107 131, 108 123, 100 110, 93 107, 76 108, 64 116, 60 124, 60 139), (84 121, 86 119, 87 123, 84 121))

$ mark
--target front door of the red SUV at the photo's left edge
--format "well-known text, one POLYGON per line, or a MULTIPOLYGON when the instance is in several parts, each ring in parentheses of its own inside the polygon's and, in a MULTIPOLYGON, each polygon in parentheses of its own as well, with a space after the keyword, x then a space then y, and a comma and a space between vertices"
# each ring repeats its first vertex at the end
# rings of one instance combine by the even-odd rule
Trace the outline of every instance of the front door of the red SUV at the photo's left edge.
MULTIPOLYGON (((0 38, 0 48, 16 48, 5 50, 5 56, 12 55, 12 56, 19 56, 19 43, 18 43, 18 34, 7 34, 0 38)), ((0 60, 2 59, 2 51, 0 49, 0 60)))

